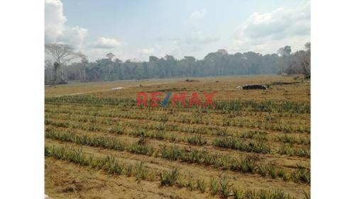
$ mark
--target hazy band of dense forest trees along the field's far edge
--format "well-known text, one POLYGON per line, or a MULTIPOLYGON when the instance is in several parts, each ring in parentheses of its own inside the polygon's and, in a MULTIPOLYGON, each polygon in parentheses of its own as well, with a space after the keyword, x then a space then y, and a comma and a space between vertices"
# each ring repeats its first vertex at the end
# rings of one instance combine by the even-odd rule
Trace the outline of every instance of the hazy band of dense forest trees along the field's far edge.
POLYGON ((305 50, 291 51, 281 47, 272 55, 256 52, 229 54, 226 50, 211 52, 204 59, 172 55, 149 57, 148 62, 122 62, 111 52, 95 62, 88 62, 70 45, 46 44, 45 84, 67 84, 67 81, 113 81, 123 79, 178 78, 185 76, 226 76, 251 74, 310 75, 310 42, 305 50), (76 61, 76 62, 75 62, 76 61))

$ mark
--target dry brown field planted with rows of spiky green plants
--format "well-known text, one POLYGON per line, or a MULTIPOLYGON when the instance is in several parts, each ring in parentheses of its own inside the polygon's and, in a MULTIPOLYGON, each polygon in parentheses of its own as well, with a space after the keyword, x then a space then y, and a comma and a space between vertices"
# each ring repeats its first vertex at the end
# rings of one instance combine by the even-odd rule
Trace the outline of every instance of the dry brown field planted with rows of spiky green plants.
POLYGON ((309 198, 310 81, 228 76, 46 87, 45 193, 309 198), (244 84, 269 86, 236 88, 244 84), (217 91, 216 108, 137 108, 136 93, 152 91, 217 91))

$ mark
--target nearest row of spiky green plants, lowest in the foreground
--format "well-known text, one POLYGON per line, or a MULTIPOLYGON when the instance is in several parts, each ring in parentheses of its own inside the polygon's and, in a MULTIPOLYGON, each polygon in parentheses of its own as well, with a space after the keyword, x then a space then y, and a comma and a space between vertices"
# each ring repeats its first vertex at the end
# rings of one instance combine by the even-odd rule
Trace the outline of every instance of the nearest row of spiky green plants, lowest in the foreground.
MULTIPOLYGON (((94 157, 82 152, 82 148, 75 147, 55 147, 45 146, 45 156, 55 157, 70 161, 82 166, 90 166, 95 169, 102 169, 107 171, 108 174, 126 175, 127 177, 135 176, 138 183, 140 181, 160 181, 162 186, 177 186, 179 188, 186 187, 190 191, 199 190, 204 193, 207 190, 207 183, 200 179, 195 180, 190 174, 184 178, 178 169, 170 171, 156 172, 153 169, 148 169, 144 166, 143 162, 135 164, 123 164, 115 157, 108 155, 106 157, 94 157)), ((222 198, 241 198, 241 199, 291 199, 290 195, 286 195, 280 189, 275 190, 250 190, 235 188, 229 181, 228 176, 221 174, 219 178, 212 178, 209 181, 209 191, 212 195, 219 194, 222 198)), ((305 198, 309 198, 305 193, 305 198)), ((293 198, 294 199, 294 198, 293 198)))

